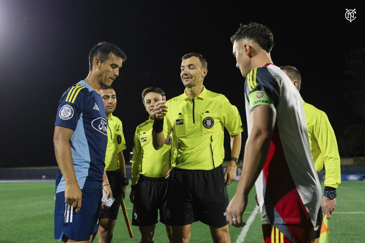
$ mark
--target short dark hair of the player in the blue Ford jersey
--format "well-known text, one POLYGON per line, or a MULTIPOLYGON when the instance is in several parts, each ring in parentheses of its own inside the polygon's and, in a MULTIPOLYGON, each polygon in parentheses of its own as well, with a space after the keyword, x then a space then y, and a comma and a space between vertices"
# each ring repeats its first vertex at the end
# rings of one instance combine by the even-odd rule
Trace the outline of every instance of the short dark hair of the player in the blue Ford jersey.
POLYGON ((89 71, 92 70, 92 65, 96 57, 99 58, 101 62, 104 62, 109 58, 110 54, 121 58, 122 62, 127 60, 126 54, 124 54, 124 52, 120 50, 118 46, 106 41, 99 42, 93 47, 93 49, 91 49, 89 53, 89 71))

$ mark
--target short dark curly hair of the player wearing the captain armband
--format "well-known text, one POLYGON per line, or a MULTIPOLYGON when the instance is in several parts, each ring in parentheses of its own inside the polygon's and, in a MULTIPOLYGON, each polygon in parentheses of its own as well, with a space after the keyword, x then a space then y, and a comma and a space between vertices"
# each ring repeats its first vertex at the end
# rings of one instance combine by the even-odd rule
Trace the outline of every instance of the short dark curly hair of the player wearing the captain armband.
POLYGON ((231 37, 231 43, 242 39, 254 40, 267 53, 274 47, 274 37, 270 29, 258 23, 240 24, 237 32, 231 37))

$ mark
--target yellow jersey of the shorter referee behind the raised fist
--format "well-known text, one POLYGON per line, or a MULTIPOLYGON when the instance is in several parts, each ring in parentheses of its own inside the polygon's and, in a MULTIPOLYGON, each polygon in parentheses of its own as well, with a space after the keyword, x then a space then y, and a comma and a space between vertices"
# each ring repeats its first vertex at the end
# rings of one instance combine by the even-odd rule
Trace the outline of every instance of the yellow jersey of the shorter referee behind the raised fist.
POLYGON ((174 146, 171 135, 167 136, 165 144, 159 150, 152 145, 151 117, 136 128, 134 134, 132 157, 132 185, 137 185, 139 175, 148 177, 165 177, 171 167, 174 146))

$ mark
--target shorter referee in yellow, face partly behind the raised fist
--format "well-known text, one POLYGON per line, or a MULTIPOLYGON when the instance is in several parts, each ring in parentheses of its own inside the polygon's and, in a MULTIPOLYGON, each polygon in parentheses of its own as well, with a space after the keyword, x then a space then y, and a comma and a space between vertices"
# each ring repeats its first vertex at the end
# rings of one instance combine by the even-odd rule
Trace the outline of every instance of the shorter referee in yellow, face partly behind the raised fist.
POLYGON ((166 174, 171 168, 174 146, 169 135, 164 146, 155 150, 152 146, 152 125, 155 118, 153 107, 162 100, 165 92, 160 88, 148 87, 142 92, 142 101, 149 118, 136 128, 132 157, 132 190, 129 195, 133 204, 132 225, 141 232, 141 243, 154 241, 158 211, 160 222, 165 224, 169 242, 172 229, 166 225, 166 174))

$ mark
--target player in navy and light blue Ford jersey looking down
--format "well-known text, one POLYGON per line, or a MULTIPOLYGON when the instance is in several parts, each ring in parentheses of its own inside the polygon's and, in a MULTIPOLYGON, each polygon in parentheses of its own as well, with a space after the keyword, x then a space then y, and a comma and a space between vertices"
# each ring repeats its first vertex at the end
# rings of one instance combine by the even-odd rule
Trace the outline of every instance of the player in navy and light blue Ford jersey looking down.
POLYGON ((89 53, 87 78, 59 100, 53 137, 59 166, 54 238, 62 242, 91 242, 97 231, 102 188, 112 196, 104 170, 107 117, 99 90, 118 77, 126 58, 117 46, 98 43, 89 53))

